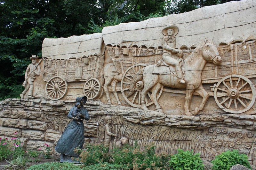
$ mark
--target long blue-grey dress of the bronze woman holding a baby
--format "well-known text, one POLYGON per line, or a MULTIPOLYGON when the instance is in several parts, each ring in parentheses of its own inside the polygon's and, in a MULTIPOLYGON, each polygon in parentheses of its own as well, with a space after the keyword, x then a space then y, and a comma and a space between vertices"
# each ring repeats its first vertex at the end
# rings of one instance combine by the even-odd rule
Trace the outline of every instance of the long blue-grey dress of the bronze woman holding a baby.
MULTIPOLYGON (((78 101, 80 102, 80 101, 78 101)), ((72 118, 72 112, 74 107, 68 113, 68 118, 72 118)), ((85 120, 89 120, 90 116, 87 109, 81 106, 81 114, 84 115, 85 120)), ((78 124, 75 120, 71 121, 67 127, 64 129, 59 141, 55 146, 55 151, 62 153, 64 155, 78 157, 79 155, 74 152, 74 149, 78 146, 81 148, 84 144, 84 123, 83 121, 78 124)))

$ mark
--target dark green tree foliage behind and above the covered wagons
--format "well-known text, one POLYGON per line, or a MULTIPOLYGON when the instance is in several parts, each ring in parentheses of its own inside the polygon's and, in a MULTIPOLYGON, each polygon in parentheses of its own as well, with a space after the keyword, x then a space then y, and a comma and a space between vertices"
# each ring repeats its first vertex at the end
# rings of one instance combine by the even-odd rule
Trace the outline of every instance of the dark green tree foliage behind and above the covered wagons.
POLYGON ((0 0, 0 100, 18 97, 44 38, 100 33, 104 26, 187 12, 229 0, 0 0))

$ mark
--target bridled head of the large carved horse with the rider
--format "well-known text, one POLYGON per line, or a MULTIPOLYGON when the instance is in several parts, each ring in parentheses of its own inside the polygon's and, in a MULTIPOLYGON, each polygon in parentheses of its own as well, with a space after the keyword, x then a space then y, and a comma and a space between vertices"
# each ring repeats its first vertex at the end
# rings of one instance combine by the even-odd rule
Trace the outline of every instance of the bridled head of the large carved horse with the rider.
POLYGON ((218 65, 221 62, 217 46, 206 38, 204 39, 204 45, 202 47, 202 55, 207 62, 211 62, 215 65, 218 65))

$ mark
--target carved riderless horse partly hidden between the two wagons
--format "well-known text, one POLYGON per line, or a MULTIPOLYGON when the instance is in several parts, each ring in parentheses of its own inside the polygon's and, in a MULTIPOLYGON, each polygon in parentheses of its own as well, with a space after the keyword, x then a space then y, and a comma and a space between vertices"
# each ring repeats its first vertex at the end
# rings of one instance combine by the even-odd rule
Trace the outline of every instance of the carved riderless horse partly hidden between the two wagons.
POLYGON ((116 93, 116 84, 121 81, 122 74, 117 73, 114 63, 108 63, 103 67, 103 77, 104 77, 105 83, 102 83, 102 84, 104 84, 103 88, 107 96, 108 104, 111 104, 111 100, 108 92, 108 86, 109 84, 111 84, 111 88, 116 98, 117 104, 121 105, 121 102, 116 93))

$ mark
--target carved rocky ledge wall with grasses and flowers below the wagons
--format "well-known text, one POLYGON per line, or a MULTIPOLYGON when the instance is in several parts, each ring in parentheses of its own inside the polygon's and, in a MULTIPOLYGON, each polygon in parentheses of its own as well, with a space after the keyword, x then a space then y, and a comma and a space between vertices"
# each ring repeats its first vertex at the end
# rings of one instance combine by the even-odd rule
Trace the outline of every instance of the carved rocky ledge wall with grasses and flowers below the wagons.
MULTIPOLYGON (((70 122, 66 115, 74 104, 75 100, 1 101, 0 136, 14 137, 14 132, 18 132, 28 150, 44 148, 47 143, 53 151, 70 122)), ((110 115, 112 131, 119 134, 117 139, 127 137, 129 144, 137 140, 141 149, 153 142, 156 152, 175 154, 179 148, 193 149, 208 160, 229 149, 238 149, 247 154, 251 164, 256 164, 255 115, 166 115, 100 101, 88 101, 85 107, 90 115, 90 120, 84 121, 86 142, 102 141, 103 118, 110 115)))

